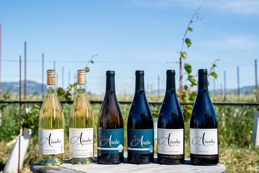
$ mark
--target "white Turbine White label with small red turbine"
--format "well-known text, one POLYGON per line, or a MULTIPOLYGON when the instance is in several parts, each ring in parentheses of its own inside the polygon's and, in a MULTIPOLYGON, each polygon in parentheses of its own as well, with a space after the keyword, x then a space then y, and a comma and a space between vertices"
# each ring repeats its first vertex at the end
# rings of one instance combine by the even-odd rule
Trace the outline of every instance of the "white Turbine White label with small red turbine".
POLYGON ((39 154, 64 153, 64 128, 39 129, 39 154))

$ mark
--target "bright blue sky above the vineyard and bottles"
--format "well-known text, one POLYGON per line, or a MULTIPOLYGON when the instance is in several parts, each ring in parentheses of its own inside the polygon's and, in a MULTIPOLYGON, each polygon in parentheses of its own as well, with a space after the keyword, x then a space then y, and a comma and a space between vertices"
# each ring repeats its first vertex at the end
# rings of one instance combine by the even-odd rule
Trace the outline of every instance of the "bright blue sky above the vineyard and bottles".
MULTIPOLYGON (((216 89, 255 85, 255 59, 259 54, 259 1, 0 1, 1 81, 19 81, 19 55, 24 80, 24 42, 27 43, 27 80, 41 83, 42 53, 44 82, 46 70, 55 69, 57 85, 66 87, 75 81, 77 69, 89 64, 87 90, 105 92, 105 72, 115 71, 116 91, 133 93, 135 70, 145 71, 146 90, 166 85, 166 70, 176 70, 179 86, 179 55, 188 22, 197 8, 208 19, 191 24, 192 45, 184 45, 186 63, 192 74, 210 69, 217 57, 216 89)), ((259 67, 258 67, 259 68, 259 67)), ((259 74, 259 73, 258 73, 259 74)), ((257 74, 257 75, 258 75, 257 74)), ((184 75, 186 78, 186 75, 184 75)), ((213 79, 209 77, 209 89, 213 79)))

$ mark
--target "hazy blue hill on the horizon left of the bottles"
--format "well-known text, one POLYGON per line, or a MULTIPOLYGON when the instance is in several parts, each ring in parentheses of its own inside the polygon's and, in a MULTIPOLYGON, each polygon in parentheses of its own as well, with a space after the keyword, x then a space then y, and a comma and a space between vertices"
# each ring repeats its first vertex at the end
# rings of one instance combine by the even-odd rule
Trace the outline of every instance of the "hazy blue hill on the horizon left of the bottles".
MULTIPOLYGON (((26 88, 27 93, 41 93, 41 83, 37 83, 34 81, 27 81, 26 88)), ((44 93, 46 92, 47 85, 44 85, 44 93)), ((12 93, 19 93, 20 90, 20 82, 1 82, 1 90, 5 92, 10 90, 12 93)), ((21 93, 24 94, 24 81, 21 82, 21 93)))

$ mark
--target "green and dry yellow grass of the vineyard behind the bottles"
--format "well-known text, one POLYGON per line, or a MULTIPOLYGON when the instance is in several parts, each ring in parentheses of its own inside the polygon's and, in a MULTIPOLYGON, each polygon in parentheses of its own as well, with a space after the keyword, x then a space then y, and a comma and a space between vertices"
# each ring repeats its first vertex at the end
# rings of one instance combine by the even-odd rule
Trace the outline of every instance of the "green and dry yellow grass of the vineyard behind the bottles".
MULTIPOLYGON (((102 100, 103 96, 88 95, 90 100, 102 100)), ((118 100, 130 100, 133 96, 120 95, 118 100)), ((27 97, 28 98, 28 97, 27 97)), ((30 98, 40 99, 41 96, 34 95, 30 98)), ((224 97, 223 97, 224 98, 224 97)), ((162 102, 163 96, 149 96, 148 101, 162 102)), ((220 95, 212 97, 213 101, 223 101, 220 95)), ((226 96, 226 101, 255 102, 254 95, 234 94, 226 96)), ((3 105, 2 105, 3 106, 3 105)), ((40 104, 22 105, 22 124, 32 128, 30 145, 25 156, 21 172, 29 172, 28 167, 38 162, 38 114, 40 104), (25 113, 25 107, 32 109, 25 113)), ((95 153, 97 153, 97 119, 101 104, 92 104, 95 116, 95 153)), ((71 104, 62 104, 65 118, 65 141, 68 141, 68 121, 71 104)), ((124 119, 124 150, 127 150, 127 117, 130 105, 121 104, 124 119)), ((189 107, 189 109, 192 106, 189 107)), ((150 105, 153 115, 157 115, 160 105, 150 105)), ((186 107, 182 106, 184 110, 186 107)), ((224 164, 227 172, 258 172, 259 170, 259 148, 250 144, 253 128, 253 117, 256 106, 215 106, 219 125, 219 162, 224 164)), ((19 104, 10 104, 2 109, 2 125, 0 126, 0 170, 3 169, 12 146, 6 143, 14 139, 19 132, 19 104)), ((185 157, 190 157, 189 120, 188 113, 185 116, 185 157)), ((156 152, 156 143, 154 146, 156 152)), ((65 143, 65 156, 68 157, 68 142, 65 143)))

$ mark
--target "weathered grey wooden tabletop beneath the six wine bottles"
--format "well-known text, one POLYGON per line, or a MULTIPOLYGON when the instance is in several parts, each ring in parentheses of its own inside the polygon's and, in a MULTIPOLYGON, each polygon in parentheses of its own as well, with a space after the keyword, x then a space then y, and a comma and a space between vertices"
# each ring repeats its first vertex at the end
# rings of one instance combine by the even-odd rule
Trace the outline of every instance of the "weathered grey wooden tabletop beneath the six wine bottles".
POLYGON ((215 166, 194 166, 191 165, 190 158, 185 158, 183 165, 160 165, 157 162, 157 154, 154 156, 154 163, 135 165, 128 163, 127 152, 124 152, 124 162, 117 165, 104 165, 98 164, 97 155, 95 154, 95 161, 90 164, 73 165, 69 163, 68 158, 64 164, 57 166, 41 166, 39 163, 33 163, 30 165, 30 170, 34 173, 80 173, 80 172, 225 172, 226 167, 223 164, 218 163, 215 166))

